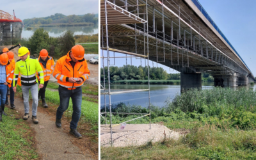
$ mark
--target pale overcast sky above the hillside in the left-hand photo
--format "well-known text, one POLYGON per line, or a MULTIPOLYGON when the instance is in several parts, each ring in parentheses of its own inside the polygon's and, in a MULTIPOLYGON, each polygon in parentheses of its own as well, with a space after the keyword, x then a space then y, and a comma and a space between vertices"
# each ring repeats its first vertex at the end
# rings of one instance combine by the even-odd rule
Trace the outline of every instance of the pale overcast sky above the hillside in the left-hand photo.
POLYGON ((98 13, 99 1, 97 0, 12 0, 1 3, 0 10, 17 18, 31 19, 33 17, 47 17, 55 13, 64 15, 84 15, 86 13, 98 13))

